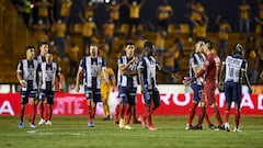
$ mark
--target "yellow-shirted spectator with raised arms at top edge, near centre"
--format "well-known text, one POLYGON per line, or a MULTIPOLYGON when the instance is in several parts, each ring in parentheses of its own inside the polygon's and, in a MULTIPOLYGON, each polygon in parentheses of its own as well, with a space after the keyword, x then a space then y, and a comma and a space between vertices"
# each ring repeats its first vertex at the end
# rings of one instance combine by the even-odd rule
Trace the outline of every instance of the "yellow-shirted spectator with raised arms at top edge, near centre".
POLYGON ((144 5, 145 0, 133 0, 132 3, 128 0, 125 0, 126 5, 129 9, 129 31, 128 38, 132 36, 133 27, 135 26, 135 33, 138 32, 140 24, 140 8, 144 5))

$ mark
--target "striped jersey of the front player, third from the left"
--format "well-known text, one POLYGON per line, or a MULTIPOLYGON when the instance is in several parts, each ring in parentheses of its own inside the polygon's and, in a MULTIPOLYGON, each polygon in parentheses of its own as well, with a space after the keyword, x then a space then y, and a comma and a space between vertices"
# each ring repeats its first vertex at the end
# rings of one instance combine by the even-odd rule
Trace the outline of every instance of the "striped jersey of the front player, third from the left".
POLYGON ((39 67, 41 71, 41 89, 55 91, 55 79, 56 76, 60 73, 60 68, 56 62, 42 62, 39 67))

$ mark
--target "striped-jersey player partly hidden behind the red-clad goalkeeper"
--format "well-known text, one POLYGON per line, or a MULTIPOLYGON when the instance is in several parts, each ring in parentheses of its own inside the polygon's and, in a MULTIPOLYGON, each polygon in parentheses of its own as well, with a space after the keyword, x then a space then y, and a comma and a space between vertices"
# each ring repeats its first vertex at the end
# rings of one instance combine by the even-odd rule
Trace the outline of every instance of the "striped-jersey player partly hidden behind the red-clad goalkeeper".
MULTIPOLYGON (((190 55, 190 77, 194 77, 195 73, 197 73, 202 69, 202 67, 205 62, 205 55, 202 53, 203 46, 204 46, 204 42, 198 41, 195 44, 195 52, 190 55)), ((202 95, 202 92, 204 89, 203 81, 204 81, 203 77, 199 77, 199 78, 191 81, 191 88, 194 92, 194 96, 193 96, 192 106, 188 110, 188 121, 187 121, 185 129, 190 129, 193 127, 192 122, 195 116, 195 112, 196 112, 197 105, 201 101, 201 95, 202 95)), ((206 123, 207 123, 208 127, 210 129, 214 129, 215 126, 211 124, 207 114, 205 115, 205 118, 206 118, 206 123)))

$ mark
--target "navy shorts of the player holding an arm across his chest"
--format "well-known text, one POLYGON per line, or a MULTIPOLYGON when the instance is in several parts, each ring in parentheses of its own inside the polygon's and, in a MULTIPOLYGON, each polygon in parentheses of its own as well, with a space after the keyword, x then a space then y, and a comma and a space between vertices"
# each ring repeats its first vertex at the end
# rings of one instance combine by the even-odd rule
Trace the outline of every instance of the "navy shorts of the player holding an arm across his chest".
POLYGON ((119 87, 119 99, 122 104, 128 103, 129 105, 135 105, 136 103, 136 88, 126 88, 126 87, 119 87))

